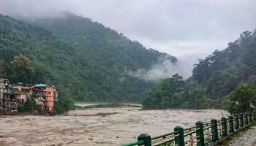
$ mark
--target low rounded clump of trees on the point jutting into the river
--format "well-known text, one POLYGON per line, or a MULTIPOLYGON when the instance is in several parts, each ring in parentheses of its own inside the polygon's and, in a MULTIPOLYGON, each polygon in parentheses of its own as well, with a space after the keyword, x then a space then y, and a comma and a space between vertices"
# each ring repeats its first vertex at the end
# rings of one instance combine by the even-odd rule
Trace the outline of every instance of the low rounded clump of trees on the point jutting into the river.
MULTIPOLYGON (((143 101, 144 109, 189 108, 203 109, 213 107, 213 101, 205 96, 206 88, 182 80, 178 74, 162 80, 150 96, 143 101)), ((214 104, 215 105, 215 104, 214 104)))

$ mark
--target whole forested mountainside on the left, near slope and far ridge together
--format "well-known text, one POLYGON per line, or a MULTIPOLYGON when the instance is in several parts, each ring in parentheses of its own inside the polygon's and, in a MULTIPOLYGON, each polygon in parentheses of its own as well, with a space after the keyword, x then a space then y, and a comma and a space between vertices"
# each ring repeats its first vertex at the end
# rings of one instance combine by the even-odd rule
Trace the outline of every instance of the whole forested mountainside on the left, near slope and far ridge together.
POLYGON ((94 101, 140 100, 154 82, 127 73, 162 57, 176 61, 69 12, 33 23, 0 15, 0 52, 0 72, 12 82, 47 82, 74 99, 94 101), (12 64, 19 54, 28 66, 12 64))

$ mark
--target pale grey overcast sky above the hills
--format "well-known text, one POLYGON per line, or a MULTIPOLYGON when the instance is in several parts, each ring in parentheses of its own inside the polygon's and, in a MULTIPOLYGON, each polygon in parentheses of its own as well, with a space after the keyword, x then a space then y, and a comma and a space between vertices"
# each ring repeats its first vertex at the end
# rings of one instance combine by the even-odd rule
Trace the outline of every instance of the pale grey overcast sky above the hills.
POLYGON ((176 56, 206 56, 256 27, 255 0, 0 0, 0 12, 25 16, 67 10, 146 47, 176 56))

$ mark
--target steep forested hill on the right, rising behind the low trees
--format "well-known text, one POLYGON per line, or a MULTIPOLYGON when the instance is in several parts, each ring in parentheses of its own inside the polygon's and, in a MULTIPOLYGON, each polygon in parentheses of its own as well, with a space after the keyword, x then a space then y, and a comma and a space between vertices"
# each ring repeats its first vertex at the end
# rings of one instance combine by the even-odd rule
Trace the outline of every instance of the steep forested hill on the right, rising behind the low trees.
POLYGON ((216 50, 193 69, 192 78, 212 98, 222 98, 239 83, 256 85, 256 31, 244 31, 225 50, 216 50))

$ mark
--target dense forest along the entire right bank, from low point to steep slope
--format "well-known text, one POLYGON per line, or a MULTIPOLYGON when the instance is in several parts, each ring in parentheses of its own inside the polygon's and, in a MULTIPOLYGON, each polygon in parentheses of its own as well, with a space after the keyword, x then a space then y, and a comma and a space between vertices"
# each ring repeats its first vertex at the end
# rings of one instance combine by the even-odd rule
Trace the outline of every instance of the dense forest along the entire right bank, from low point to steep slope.
MULTIPOLYGON (((162 80, 143 101, 146 109, 232 107, 238 100, 255 104, 256 30, 244 31, 224 50, 215 50, 195 64, 192 77, 183 80, 178 74, 162 80), (244 84, 243 84, 244 83, 244 84), (234 94, 240 96, 236 97, 234 94), (255 93, 255 94, 254 94, 255 93), (242 96, 243 95, 243 96, 242 96), (229 99, 234 99, 227 104, 229 99), (227 105, 226 105, 227 104, 227 105)), ((255 104, 256 105, 256 104, 255 104)), ((232 109, 231 108, 231 109, 232 109)), ((235 110, 235 109, 233 109, 235 110)), ((231 110, 232 111, 232 110, 231 110)))

